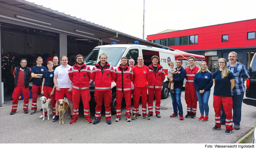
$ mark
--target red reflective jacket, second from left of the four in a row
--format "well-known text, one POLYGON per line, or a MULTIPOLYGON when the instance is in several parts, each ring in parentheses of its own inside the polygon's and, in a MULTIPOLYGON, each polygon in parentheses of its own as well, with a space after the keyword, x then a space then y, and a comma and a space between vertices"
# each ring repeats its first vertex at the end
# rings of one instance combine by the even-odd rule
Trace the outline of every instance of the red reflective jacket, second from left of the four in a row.
POLYGON ((115 77, 115 70, 108 62, 103 70, 98 62, 91 71, 91 79, 95 81, 95 91, 110 91, 111 81, 115 77))

